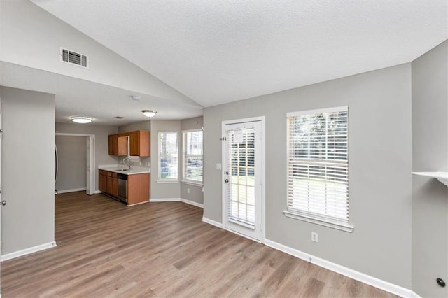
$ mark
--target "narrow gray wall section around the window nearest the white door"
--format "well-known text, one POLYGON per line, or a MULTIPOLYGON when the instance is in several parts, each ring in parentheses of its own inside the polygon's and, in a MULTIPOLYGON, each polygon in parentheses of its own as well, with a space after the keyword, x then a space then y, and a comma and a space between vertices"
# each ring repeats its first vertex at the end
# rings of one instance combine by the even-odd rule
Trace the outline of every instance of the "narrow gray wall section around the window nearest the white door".
MULTIPOLYGON (((181 130, 190 130, 190 129, 201 129, 204 126, 204 118, 203 117, 195 117, 181 120, 181 130)), ((181 141, 182 138, 181 138, 181 141)), ((182 148, 181 146, 179 148, 182 148)), ((182 149, 181 149, 182 150, 182 149)), ((182 159, 182 151, 180 151, 181 155, 179 155, 180 159, 182 159)), ((182 167, 181 167, 182 169, 182 167)), ((202 192, 202 186, 192 185, 188 183, 181 183, 181 198, 188 199, 188 201, 194 201, 199 204, 204 204, 204 192, 202 192), (188 193, 190 190, 190 193, 188 193)))

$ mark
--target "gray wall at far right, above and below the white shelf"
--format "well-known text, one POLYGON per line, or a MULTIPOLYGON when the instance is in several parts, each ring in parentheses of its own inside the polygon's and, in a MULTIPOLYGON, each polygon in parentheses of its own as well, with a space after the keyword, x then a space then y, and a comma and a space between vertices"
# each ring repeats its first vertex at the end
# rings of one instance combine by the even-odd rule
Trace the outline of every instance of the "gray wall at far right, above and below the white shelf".
MULTIPOLYGON (((412 170, 448 171, 448 42, 412 62, 412 170)), ((448 297, 448 187, 412 178, 412 290, 448 297)))

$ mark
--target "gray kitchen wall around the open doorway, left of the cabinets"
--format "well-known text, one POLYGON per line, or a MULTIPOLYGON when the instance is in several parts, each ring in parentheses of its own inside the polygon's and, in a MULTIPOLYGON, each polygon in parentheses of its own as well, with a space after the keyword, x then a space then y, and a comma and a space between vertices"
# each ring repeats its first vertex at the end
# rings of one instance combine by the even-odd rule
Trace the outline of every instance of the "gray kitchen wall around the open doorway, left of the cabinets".
POLYGON ((117 127, 75 123, 56 123, 56 132, 69 134, 93 134, 95 136, 95 186, 98 190, 98 165, 117 164, 118 157, 109 155, 109 134, 116 134, 117 127))

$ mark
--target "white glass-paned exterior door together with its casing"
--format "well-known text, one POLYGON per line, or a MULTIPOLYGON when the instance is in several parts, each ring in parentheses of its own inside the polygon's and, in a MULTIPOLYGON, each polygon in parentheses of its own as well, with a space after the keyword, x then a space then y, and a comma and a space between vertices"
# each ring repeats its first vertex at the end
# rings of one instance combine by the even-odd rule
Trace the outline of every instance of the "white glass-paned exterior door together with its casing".
POLYGON ((223 227, 264 237, 264 117, 223 122, 223 227))

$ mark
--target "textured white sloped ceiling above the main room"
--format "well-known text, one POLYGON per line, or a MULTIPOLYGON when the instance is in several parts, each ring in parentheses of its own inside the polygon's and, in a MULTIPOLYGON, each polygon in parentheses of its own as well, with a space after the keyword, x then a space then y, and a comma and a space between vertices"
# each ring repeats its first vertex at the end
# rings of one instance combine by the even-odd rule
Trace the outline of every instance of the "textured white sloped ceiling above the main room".
POLYGON ((33 0, 203 106, 410 62, 447 1, 33 0))

